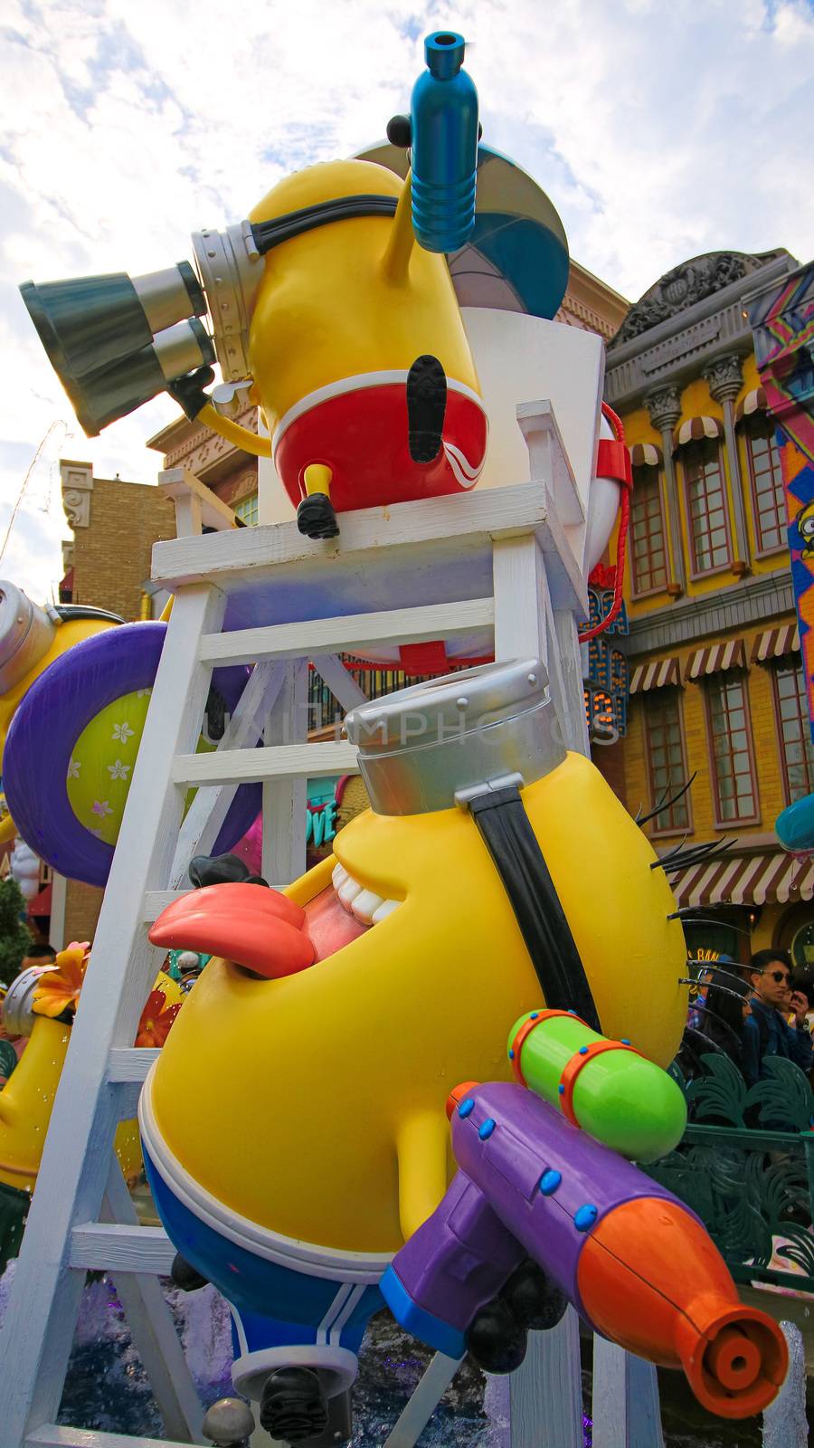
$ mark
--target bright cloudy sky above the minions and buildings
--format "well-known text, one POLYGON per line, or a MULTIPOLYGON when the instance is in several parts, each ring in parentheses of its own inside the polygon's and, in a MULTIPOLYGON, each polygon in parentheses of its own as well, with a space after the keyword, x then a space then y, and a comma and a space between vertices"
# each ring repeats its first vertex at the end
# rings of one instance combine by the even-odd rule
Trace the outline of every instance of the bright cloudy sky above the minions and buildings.
POLYGON ((154 482, 145 439, 177 416, 164 397, 87 439, 19 284, 191 258, 193 230, 381 139, 440 28, 484 140, 624 297, 707 251, 814 258, 814 0, 4 0, 0 578, 54 597, 59 458, 154 482))

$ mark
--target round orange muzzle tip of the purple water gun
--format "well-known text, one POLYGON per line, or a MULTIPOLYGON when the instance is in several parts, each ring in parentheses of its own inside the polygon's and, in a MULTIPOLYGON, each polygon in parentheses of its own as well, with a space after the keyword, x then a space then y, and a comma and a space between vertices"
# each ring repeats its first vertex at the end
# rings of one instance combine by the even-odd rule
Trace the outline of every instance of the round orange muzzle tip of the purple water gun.
POLYGON ((752 1418, 788 1371, 788 1345, 766 1312, 737 1303, 707 1323, 682 1367, 698 1402, 718 1418, 752 1418))

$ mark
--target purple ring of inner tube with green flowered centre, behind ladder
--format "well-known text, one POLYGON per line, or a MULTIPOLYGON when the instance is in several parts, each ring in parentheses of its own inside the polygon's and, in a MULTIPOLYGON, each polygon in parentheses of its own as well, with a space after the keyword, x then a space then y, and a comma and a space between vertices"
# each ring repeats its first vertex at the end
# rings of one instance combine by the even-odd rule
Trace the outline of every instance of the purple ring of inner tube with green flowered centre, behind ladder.
MULTIPOLYGON (((122 624, 68 649, 41 673, 17 707, 6 738, 3 786, 17 834, 54 870, 71 880, 104 886, 113 846, 85 830, 68 799, 68 763, 94 714, 125 694, 155 682, 167 624, 122 624)), ((211 682, 232 712, 249 669, 214 669, 211 682)), ((262 804, 262 785, 240 785, 213 854, 229 850, 262 804)))

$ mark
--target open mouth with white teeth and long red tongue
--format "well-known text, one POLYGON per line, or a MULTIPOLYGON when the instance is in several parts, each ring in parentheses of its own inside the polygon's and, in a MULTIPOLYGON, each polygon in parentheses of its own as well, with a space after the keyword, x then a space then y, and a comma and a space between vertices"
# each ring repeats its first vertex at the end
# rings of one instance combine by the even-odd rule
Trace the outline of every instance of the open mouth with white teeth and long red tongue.
POLYGON ((267 885, 206 885, 172 901, 149 938, 165 950, 204 951, 278 980, 335 956, 400 904, 359 885, 337 862, 330 885, 304 906, 267 885))

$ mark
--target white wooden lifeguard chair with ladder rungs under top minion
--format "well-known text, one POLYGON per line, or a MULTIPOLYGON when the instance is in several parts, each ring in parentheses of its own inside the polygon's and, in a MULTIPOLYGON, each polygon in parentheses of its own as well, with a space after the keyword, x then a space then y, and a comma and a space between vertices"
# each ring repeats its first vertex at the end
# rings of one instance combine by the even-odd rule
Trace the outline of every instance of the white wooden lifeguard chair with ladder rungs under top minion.
MULTIPOLYGON (((211 849, 235 789, 262 780, 264 873, 281 886, 304 867, 309 776, 356 767, 348 743, 307 743, 309 662, 348 710, 362 694, 337 652, 482 634, 497 659, 546 662, 565 740, 587 750, 585 588, 553 500, 571 471, 549 404, 527 404, 523 430, 534 481, 348 514, 330 544, 295 524, 201 536, 201 518, 223 527, 227 510, 188 473, 162 475, 185 536, 155 546, 152 579, 175 601, 0 1337, 0 1448, 149 1442, 55 1426, 91 1267, 116 1274, 168 1436, 200 1442, 201 1407, 155 1280, 174 1248, 138 1226, 113 1135, 155 1056, 130 1044, 162 956, 148 925, 188 888, 187 862, 211 849), (197 754, 211 669, 225 663, 256 668, 219 747, 197 754)), ((520 1402, 521 1373, 511 1392, 520 1402)), ((563 1448, 545 1436, 549 1412, 542 1402, 534 1445, 563 1448)))

